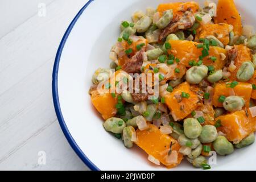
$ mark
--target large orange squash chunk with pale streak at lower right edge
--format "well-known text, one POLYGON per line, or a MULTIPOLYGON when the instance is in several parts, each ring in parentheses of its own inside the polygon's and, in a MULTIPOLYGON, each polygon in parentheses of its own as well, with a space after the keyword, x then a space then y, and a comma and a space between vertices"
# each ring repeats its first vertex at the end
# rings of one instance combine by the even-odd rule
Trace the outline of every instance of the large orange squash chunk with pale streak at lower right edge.
POLYGON ((255 118, 251 118, 248 110, 221 115, 216 118, 216 121, 218 120, 220 120, 221 127, 218 127, 217 130, 224 133, 225 137, 234 143, 239 143, 243 138, 255 131, 255 118))

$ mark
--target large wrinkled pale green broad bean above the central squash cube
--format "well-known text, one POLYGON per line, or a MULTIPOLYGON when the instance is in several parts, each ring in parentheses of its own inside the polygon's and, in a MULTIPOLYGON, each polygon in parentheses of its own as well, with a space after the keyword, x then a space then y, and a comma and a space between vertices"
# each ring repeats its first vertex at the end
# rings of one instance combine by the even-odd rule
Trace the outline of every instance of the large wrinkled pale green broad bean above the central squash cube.
POLYGON ((186 80, 189 84, 199 84, 207 76, 207 73, 208 67, 205 65, 192 67, 186 73, 186 80))

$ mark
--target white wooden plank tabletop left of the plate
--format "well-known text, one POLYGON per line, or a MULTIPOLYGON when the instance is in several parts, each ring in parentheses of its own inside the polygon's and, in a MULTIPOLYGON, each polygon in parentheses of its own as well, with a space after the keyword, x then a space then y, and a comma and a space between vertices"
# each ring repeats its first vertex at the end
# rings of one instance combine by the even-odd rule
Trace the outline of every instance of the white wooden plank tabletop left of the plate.
POLYGON ((60 40, 86 2, 0 0, 0 170, 88 169, 60 129, 51 92, 60 40))

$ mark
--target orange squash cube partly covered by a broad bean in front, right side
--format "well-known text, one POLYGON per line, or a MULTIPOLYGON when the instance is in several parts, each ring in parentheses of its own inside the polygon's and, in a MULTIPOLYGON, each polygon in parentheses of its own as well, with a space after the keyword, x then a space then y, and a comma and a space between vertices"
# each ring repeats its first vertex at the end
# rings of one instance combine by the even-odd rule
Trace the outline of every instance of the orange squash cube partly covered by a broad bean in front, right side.
POLYGON ((220 96, 240 96, 245 100, 245 106, 249 107, 251 98, 251 84, 245 82, 239 82, 235 88, 230 88, 226 82, 221 82, 215 85, 212 104, 215 107, 223 107, 223 103, 219 102, 220 96))

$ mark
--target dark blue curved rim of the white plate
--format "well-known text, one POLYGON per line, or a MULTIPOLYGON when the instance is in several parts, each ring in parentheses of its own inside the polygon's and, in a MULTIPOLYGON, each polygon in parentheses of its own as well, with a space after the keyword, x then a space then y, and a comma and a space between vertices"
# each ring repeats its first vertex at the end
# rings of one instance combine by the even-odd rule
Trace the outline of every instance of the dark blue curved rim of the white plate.
POLYGON ((57 50, 57 54, 55 57, 55 63, 53 65, 53 72, 52 72, 52 97, 53 97, 53 104, 55 107, 55 112, 57 115, 57 119, 59 120, 60 127, 67 138, 69 144, 73 148, 73 150, 76 152, 76 154, 80 157, 80 159, 88 166, 90 169, 94 171, 100 171, 100 169, 93 164, 90 159, 82 152, 81 148, 77 145, 76 141, 73 139, 71 133, 69 133, 68 127, 65 123, 65 120, 63 118, 63 115, 61 113, 61 108, 60 108, 60 102, 59 102, 59 93, 58 93, 58 72, 59 72, 59 63, 60 63, 60 57, 61 53, 63 51, 63 48, 65 46, 65 42, 68 39, 69 34, 71 33, 73 27, 75 26, 77 20, 81 16, 81 14, 84 12, 86 7, 89 6, 89 4, 94 1, 94 0, 89 0, 84 7, 77 13, 75 18, 72 20, 71 24, 69 24, 67 31, 65 32, 63 38, 61 39, 60 46, 57 50))

